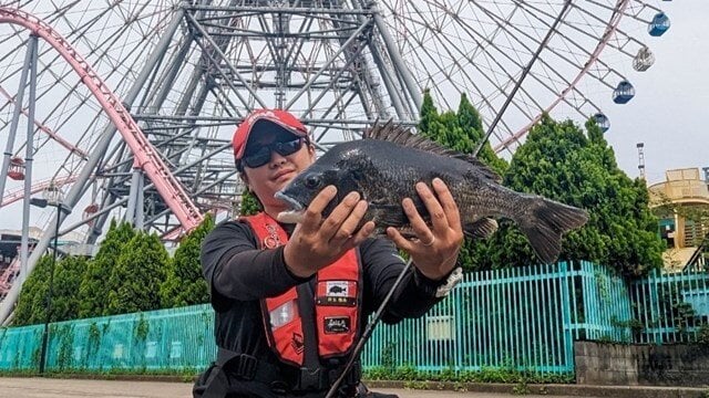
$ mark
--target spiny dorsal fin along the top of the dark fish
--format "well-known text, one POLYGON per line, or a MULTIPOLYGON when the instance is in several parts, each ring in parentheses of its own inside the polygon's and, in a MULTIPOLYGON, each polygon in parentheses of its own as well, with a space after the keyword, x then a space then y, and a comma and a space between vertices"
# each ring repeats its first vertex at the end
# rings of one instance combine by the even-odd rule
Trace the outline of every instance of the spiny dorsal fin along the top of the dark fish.
POLYGON ((423 136, 423 134, 411 133, 411 130, 404 128, 402 125, 394 124, 391 119, 387 121, 387 123, 384 124, 374 122, 374 125, 371 128, 364 130, 364 133, 362 134, 362 138, 384 140, 409 148, 415 148, 441 156, 456 158, 475 166, 476 171, 480 172, 483 177, 495 182, 502 182, 502 177, 500 177, 500 175, 497 175, 497 172, 491 169, 487 165, 480 161, 480 159, 477 159, 476 157, 445 148, 441 144, 423 136))

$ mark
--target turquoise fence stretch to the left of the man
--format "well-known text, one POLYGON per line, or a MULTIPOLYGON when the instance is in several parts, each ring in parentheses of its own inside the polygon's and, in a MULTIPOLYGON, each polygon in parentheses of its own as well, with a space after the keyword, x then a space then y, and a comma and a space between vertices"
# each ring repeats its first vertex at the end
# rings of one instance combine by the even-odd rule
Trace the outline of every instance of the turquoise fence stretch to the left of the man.
MULTIPOLYGON (((39 368, 42 325, 0 329, 0 369, 39 368)), ((185 370, 216 356, 209 305, 50 325, 49 371, 185 370)))

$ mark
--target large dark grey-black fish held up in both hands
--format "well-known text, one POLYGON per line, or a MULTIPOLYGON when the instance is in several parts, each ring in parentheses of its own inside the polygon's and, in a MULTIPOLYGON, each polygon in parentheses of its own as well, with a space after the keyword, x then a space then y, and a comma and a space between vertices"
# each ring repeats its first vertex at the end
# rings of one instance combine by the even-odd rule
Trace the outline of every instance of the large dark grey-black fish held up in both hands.
POLYGON ((298 222, 315 196, 333 185, 338 196, 323 216, 348 192, 358 191, 369 202, 364 221, 373 220, 380 232, 387 227, 405 231, 410 226, 401 200, 413 199, 429 222, 429 213, 414 186, 418 181, 430 185, 435 177, 445 181, 451 190, 467 234, 493 233, 497 223, 491 217, 512 219, 546 263, 558 258, 562 234, 588 220, 582 209, 505 188, 500 185, 501 178, 475 157, 442 148, 391 123, 376 126, 364 139, 333 146, 294 178, 276 193, 292 211, 282 212, 278 218, 284 222, 298 222))

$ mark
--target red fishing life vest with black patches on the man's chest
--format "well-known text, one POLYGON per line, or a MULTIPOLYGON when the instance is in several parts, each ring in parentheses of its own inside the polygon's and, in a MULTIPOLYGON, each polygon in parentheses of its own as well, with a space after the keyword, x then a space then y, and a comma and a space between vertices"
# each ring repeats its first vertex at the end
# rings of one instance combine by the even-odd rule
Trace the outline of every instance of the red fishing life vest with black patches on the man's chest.
MULTIPOLYGON (((288 234, 268 214, 260 212, 242 220, 251 227, 261 249, 286 244, 288 234)), ((351 352, 359 333, 362 302, 360 263, 354 249, 316 274, 315 297, 308 283, 290 287, 275 297, 261 300, 261 317, 268 345, 281 362, 296 366, 306 364, 307 334, 315 333, 317 356, 321 359, 342 357, 351 352), (312 331, 315 316, 316 323, 312 331)), ((312 341, 310 338, 310 341, 312 341)))

